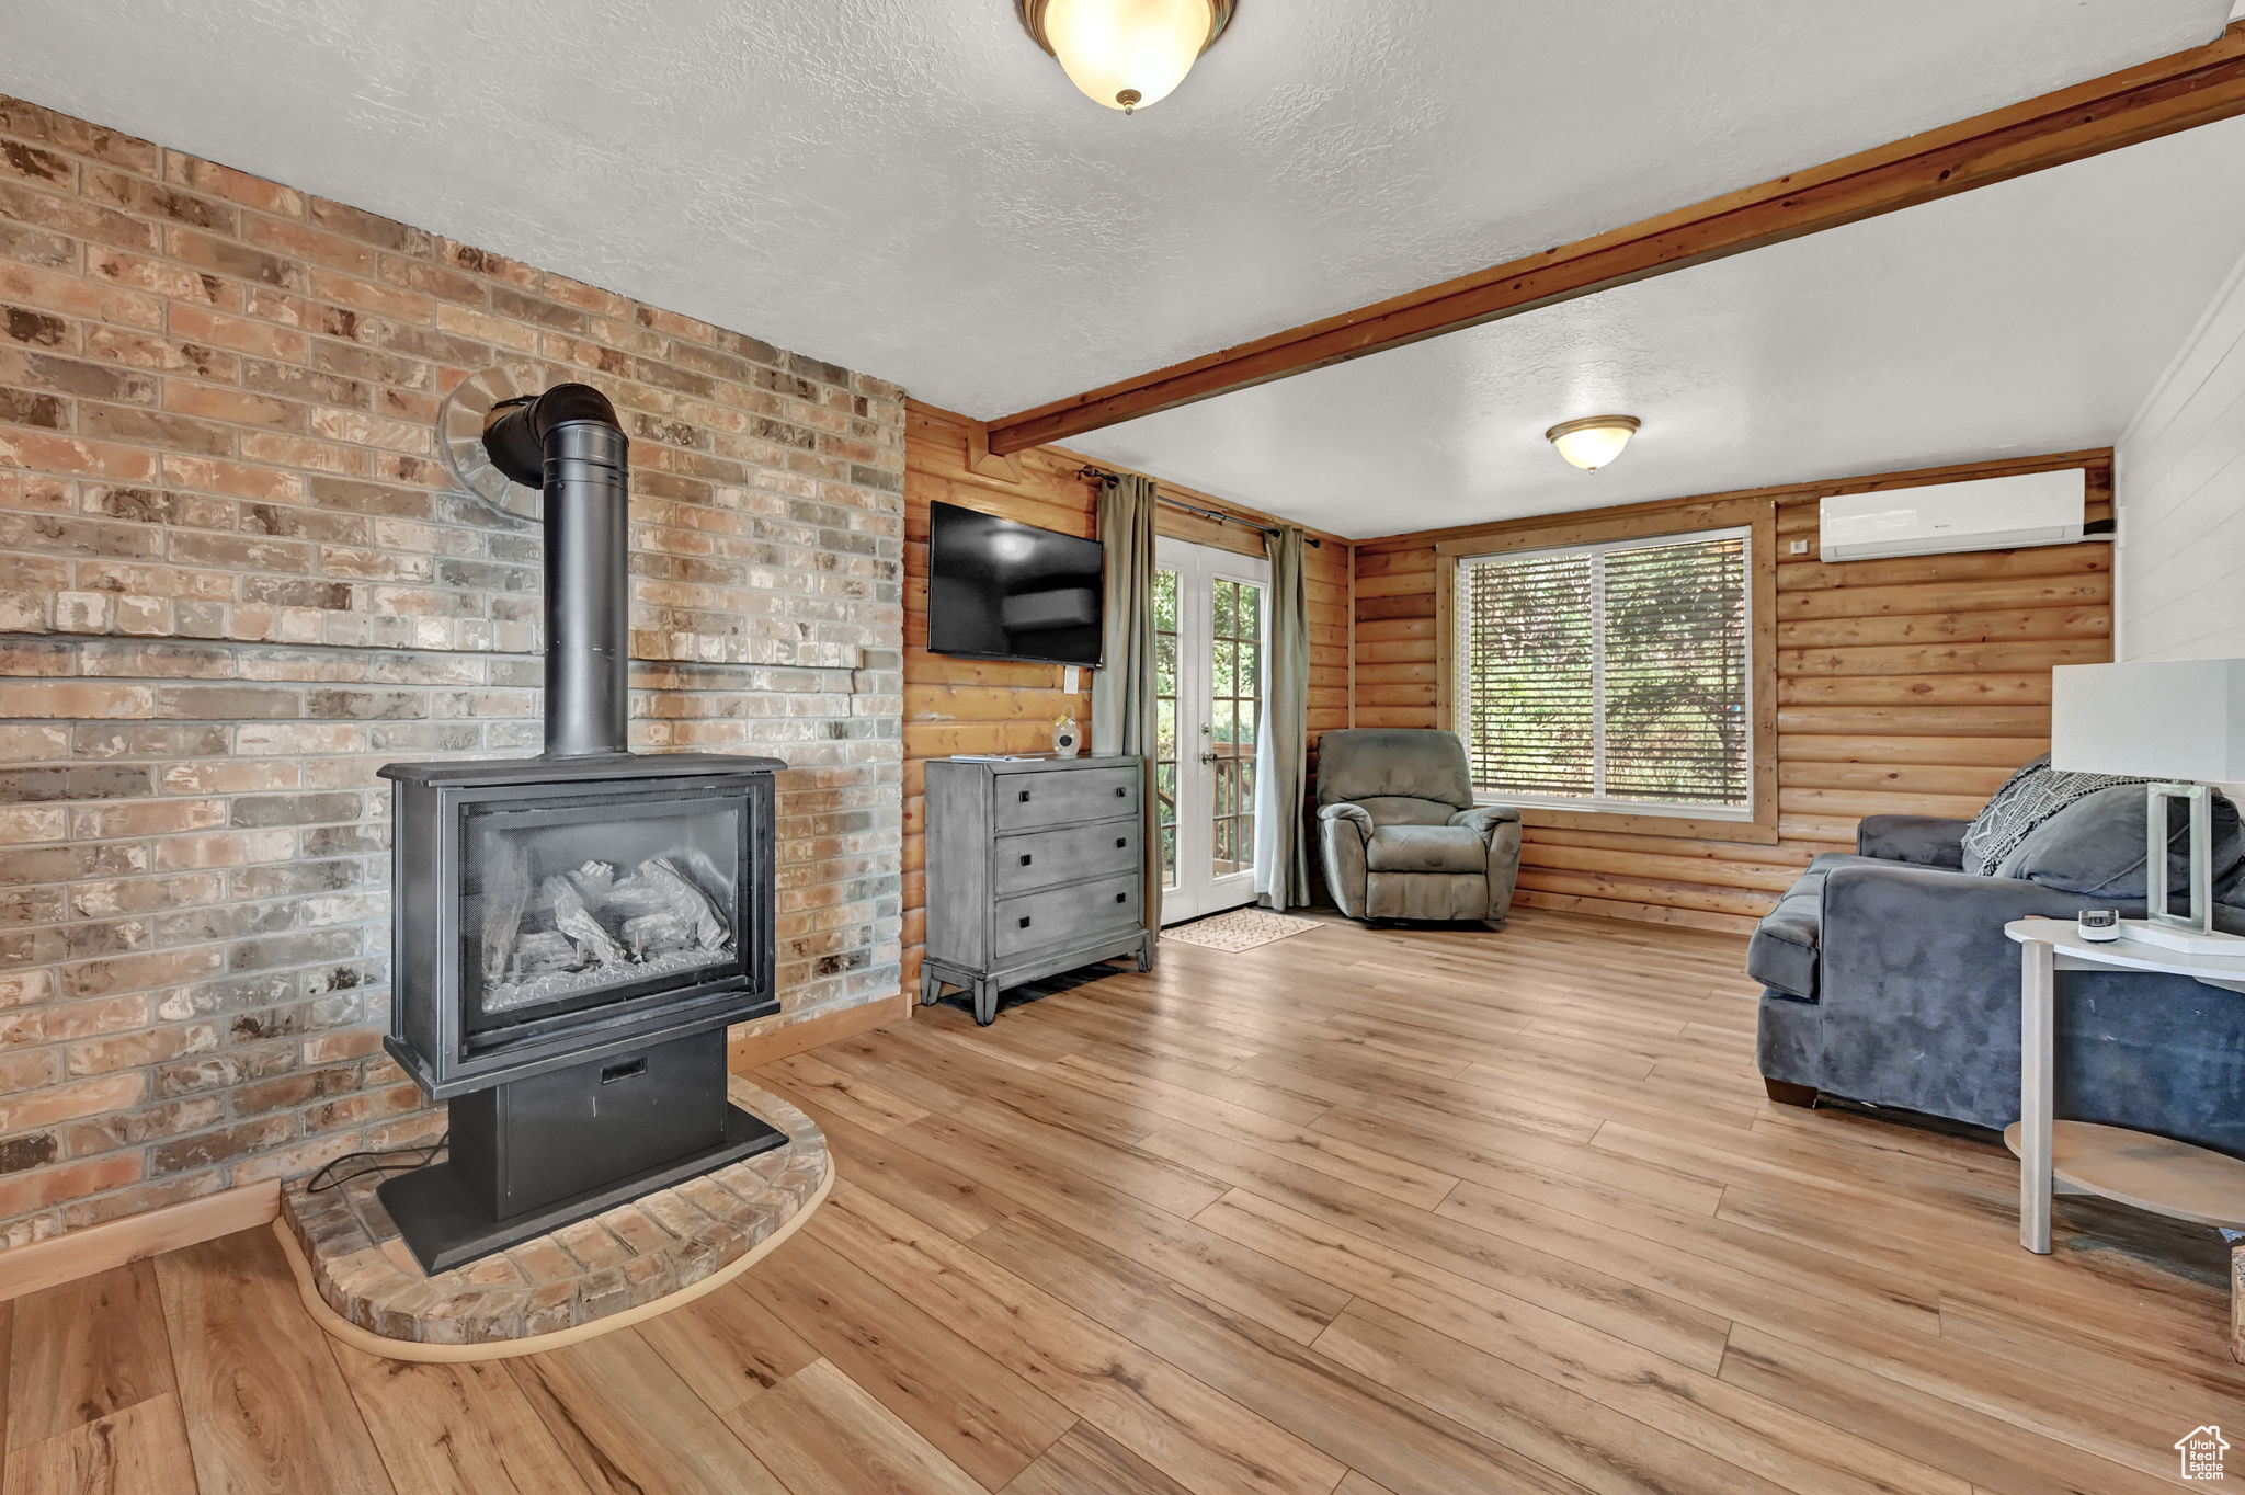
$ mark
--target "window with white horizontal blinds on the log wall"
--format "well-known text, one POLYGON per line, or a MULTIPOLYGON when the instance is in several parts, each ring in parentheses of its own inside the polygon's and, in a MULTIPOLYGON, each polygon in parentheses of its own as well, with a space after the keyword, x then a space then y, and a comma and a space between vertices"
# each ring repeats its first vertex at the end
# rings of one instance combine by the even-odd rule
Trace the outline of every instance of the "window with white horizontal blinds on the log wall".
POLYGON ((1753 813, 1747 530, 1459 557, 1453 700, 1475 790, 1753 813))

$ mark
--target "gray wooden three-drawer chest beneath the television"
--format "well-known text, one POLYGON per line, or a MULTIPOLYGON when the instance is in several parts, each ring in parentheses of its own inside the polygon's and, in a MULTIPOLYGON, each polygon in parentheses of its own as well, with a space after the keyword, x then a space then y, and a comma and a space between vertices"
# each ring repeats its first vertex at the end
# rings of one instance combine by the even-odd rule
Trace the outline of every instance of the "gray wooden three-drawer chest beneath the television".
POLYGON ((1118 954, 1152 967, 1143 779, 1120 756, 927 763, 923 1006, 963 985, 988 1024, 1008 985, 1118 954))

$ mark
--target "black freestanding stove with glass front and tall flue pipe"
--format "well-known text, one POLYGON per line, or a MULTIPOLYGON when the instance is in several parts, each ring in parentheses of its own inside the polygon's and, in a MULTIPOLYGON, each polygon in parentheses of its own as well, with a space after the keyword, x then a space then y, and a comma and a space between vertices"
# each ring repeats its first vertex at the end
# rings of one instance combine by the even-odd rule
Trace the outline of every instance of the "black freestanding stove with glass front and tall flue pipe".
POLYGON ((786 1138, 725 1100, 772 992, 777 759, 626 745, 626 451, 599 391, 492 409, 543 487, 546 752, 391 763, 391 1055, 451 1102, 445 1163, 382 1185, 445 1271, 786 1138))

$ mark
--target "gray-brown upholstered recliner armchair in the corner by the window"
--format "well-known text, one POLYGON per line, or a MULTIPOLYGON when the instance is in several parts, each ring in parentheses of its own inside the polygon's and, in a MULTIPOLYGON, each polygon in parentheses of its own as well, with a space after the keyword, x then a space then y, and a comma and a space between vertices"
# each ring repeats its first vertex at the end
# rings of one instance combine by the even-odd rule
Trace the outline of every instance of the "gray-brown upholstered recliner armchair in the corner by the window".
POLYGON ((1327 732, 1318 855, 1349 918, 1502 920, 1520 875, 1520 810, 1473 804, 1455 732, 1327 732))

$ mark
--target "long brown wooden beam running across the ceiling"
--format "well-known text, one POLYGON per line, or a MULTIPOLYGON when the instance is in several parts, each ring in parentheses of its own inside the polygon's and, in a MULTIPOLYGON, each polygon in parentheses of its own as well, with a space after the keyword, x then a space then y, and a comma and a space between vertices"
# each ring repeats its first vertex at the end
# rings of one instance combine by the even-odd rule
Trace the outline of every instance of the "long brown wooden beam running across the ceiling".
POLYGON ((1042 447, 2236 114, 2245 114, 2245 22, 2205 47, 1004 415, 988 422, 986 449, 1042 447))

